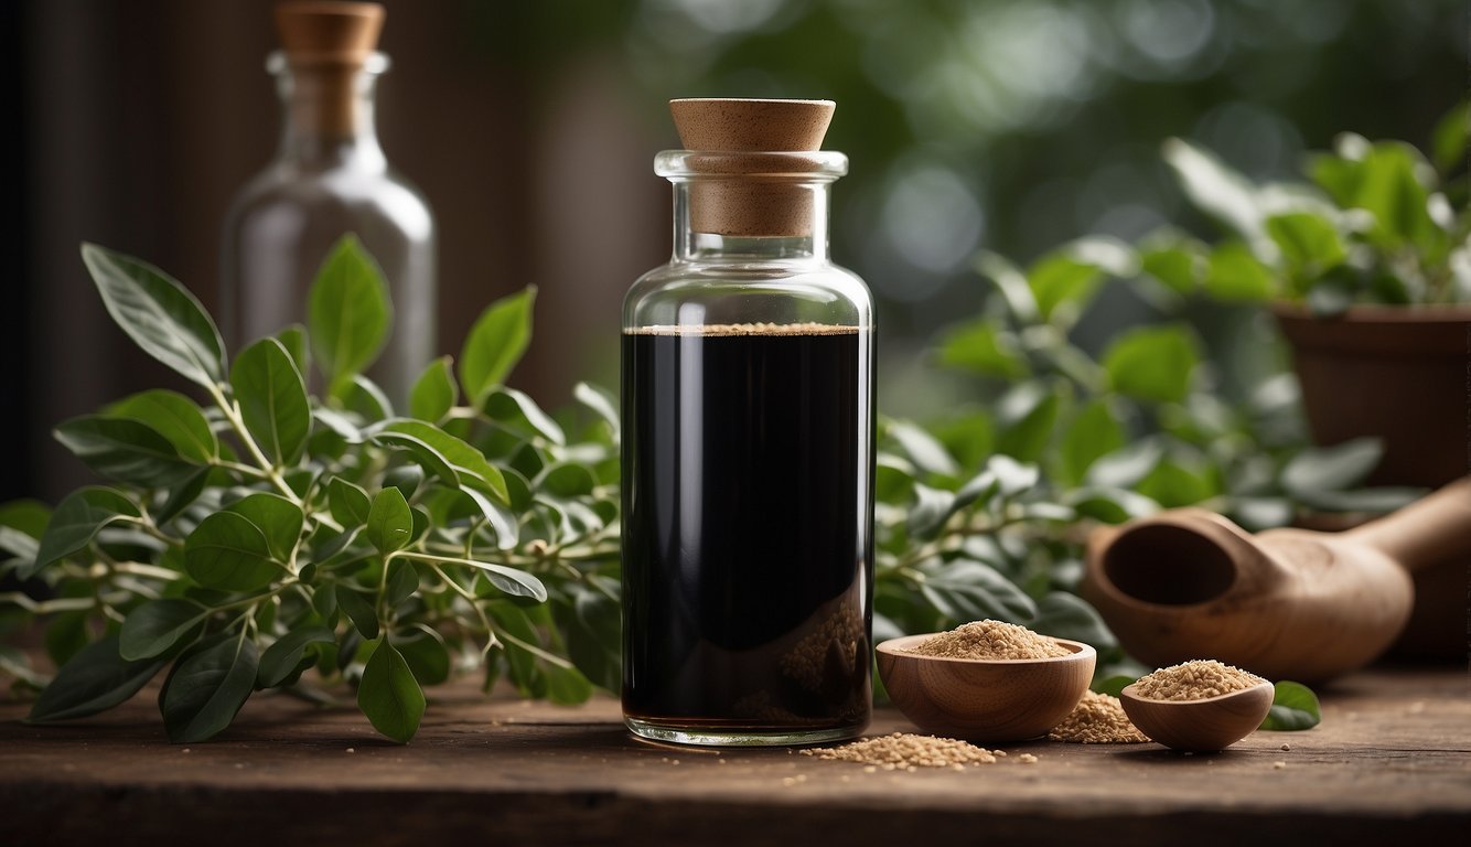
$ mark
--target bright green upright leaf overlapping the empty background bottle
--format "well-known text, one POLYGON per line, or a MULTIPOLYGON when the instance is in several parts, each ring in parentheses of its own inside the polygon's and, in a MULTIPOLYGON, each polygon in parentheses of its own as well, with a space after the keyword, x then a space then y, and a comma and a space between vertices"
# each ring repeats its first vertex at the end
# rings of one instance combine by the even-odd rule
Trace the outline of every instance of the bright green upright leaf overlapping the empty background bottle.
POLYGON ((316 272, 306 309, 312 354, 334 396, 378 357, 391 321, 382 271, 356 235, 343 235, 316 272))

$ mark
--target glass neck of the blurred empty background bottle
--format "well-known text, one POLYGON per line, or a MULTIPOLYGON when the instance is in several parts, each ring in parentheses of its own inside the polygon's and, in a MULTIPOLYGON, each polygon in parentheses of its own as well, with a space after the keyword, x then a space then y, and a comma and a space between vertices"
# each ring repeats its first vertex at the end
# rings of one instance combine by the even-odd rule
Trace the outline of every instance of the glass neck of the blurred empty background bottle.
POLYGON ((306 169, 387 169, 374 125, 385 56, 375 53, 365 65, 296 65, 284 53, 274 53, 268 66, 277 76, 282 107, 279 162, 306 169))

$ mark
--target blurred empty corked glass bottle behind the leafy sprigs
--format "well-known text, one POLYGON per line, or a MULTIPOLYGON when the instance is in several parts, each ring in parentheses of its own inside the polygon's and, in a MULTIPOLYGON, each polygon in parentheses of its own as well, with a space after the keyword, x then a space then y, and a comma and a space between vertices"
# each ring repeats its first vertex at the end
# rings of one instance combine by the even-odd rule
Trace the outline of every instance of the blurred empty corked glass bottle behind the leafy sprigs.
POLYGON ((222 329, 241 344, 306 318, 307 291, 353 232, 388 281, 393 324, 369 376, 407 399, 435 350, 434 218, 378 144, 374 91, 388 57, 374 50, 375 3, 284 3, 284 50, 268 59, 282 104, 275 159, 237 194, 225 222, 222 329))

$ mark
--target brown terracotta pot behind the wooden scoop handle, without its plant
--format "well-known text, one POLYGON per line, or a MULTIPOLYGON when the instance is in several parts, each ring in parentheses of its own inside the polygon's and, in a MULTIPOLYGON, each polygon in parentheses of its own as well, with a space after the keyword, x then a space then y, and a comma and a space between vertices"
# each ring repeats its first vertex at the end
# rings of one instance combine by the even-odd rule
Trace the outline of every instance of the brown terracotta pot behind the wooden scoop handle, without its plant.
MULTIPOLYGON (((1384 443, 1374 485, 1436 488, 1471 471, 1471 307, 1355 306, 1339 318, 1272 309, 1293 351, 1318 444, 1384 443)), ((1415 607, 1399 656, 1467 657, 1464 557, 1415 573, 1415 607)))

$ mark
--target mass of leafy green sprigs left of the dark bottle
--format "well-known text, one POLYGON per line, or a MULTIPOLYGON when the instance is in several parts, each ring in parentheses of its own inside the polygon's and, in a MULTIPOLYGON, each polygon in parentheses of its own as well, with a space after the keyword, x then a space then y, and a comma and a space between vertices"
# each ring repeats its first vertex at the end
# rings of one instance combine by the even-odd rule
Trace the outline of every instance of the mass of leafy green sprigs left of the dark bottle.
POLYGON ((391 306, 355 238, 322 266, 309 329, 257 340, 228 366, 178 282, 100 247, 82 254, 119 326, 204 403, 144 391, 62 424, 57 440, 107 485, 54 513, 0 507, 0 575, 49 587, 44 600, 0 594, 0 612, 41 616, 60 665, 47 684, 22 653, 0 654, 18 684, 44 685, 29 721, 110 709, 165 668, 175 743, 224 731, 256 690, 310 687, 307 672, 356 685, 396 741, 419 726, 422 687, 453 668, 568 703, 591 681, 616 688, 616 406, 581 385, 584 412, 559 425, 502 385, 531 334, 530 291, 477 322, 460 384, 435 360, 413 418, 396 418, 363 375, 391 306), (325 397, 307 394, 312 362, 325 397))

